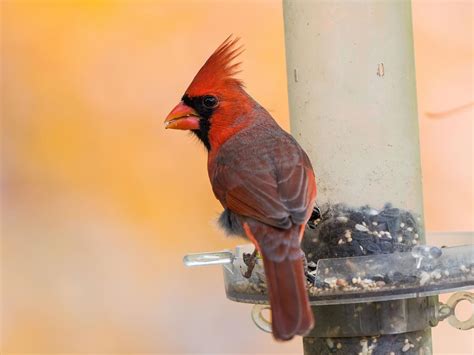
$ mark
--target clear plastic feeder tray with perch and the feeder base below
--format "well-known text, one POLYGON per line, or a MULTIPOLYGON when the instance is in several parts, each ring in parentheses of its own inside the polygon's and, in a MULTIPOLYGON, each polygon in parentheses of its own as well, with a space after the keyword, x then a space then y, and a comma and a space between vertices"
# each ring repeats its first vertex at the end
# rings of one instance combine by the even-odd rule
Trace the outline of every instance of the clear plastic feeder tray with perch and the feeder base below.
MULTIPOLYGON (((271 332, 271 323, 262 314, 269 308, 262 260, 257 260, 250 278, 243 276, 247 270, 243 255, 253 250, 247 244, 233 251, 189 254, 184 264, 222 264, 227 298, 254 304, 254 323, 271 332)), ((342 339, 359 339, 353 348, 362 353, 367 348, 370 353, 377 336, 390 335, 390 349, 398 346, 401 353, 429 354, 431 344, 425 340, 430 342, 429 328, 439 321, 448 319, 463 330, 474 327, 474 315, 460 321, 454 312, 461 300, 474 303, 473 294, 463 292, 474 287, 473 256, 474 245, 418 245, 410 252, 320 259, 317 265, 308 265, 314 277, 308 293, 318 325, 304 338, 305 349, 312 349, 305 353, 347 353, 350 344, 342 339), (457 293, 446 304, 438 301, 437 295, 452 292, 457 293), (357 338, 361 336, 369 338, 357 338), (315 349, 316 338, 326 339, 326 349, 315 349)))

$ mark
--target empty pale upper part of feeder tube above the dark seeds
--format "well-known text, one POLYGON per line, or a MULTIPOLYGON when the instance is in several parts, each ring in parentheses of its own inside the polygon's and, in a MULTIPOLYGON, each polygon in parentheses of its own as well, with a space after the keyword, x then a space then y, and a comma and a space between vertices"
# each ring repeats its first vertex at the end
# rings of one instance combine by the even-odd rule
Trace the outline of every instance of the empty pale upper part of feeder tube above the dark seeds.
POLYGON ((411 3, 283 4, 291 130, 318 203, 422 215, 411 3))

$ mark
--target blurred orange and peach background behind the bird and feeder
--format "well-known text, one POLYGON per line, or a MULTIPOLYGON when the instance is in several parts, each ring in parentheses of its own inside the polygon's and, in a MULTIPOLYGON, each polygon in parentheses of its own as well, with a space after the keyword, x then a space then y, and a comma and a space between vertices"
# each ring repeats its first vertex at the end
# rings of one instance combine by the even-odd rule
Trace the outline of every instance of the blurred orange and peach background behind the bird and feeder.
MULTIPOLYGON (((474 229, 472 14, 413 2, 428 231, 474 229)), ((162 125, 233 33, 288 129, 280 1, 4 0, 1 21, 2 353, 301 353, 225 299, 217 267, 183 267, 242 241, 214 225, 204 148, 162 125)), ((472 332, 434 337, 474 352, 472 332)))

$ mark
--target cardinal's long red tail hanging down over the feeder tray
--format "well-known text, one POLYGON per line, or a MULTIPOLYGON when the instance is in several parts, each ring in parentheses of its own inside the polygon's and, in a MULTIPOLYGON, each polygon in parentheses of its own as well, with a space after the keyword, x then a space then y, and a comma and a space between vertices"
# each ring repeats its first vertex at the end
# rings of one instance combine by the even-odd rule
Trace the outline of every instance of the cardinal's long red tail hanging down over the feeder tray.
POLYGON ((252 227, 255 233, 244 224, 246 235, 263 256, 273 336, 277 340, 290 340, 295 335, 307 334, 314 326, 314 317, 306 290, 303 252, 299 247, 297 228, 252 227))

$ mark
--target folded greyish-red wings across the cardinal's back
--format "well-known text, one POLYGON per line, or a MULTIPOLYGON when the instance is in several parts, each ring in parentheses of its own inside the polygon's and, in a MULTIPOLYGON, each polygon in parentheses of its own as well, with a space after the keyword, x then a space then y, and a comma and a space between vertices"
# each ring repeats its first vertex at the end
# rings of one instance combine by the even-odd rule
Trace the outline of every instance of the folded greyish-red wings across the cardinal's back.
POLYGON ((216 160, 211 179, 221 203, 234 213, 278 228, 306 223, 316 185, 304 151, 293 143, 277 146, 268 155, 261 151, 257 159, 250 156, 216 160))

